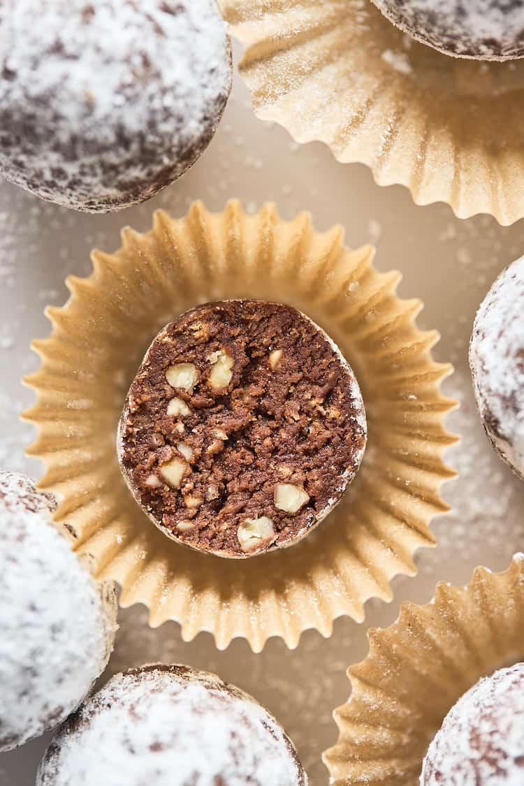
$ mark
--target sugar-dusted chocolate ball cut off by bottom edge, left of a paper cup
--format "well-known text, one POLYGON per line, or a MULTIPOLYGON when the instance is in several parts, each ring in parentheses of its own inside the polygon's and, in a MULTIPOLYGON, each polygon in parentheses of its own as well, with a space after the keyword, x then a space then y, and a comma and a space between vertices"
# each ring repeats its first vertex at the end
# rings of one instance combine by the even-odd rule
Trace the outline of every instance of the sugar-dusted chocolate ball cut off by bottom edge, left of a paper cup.
POLYGON ((214 674, 146 666, 117 674, 51 743, 36 786, 306 786, 291 740, 214 674))

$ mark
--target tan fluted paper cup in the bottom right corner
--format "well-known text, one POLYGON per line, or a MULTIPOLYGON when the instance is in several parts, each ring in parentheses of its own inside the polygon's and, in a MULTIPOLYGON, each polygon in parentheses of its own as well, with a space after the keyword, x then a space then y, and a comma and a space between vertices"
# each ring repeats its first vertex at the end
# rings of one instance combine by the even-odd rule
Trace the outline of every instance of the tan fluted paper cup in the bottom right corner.
POLYGON ((350 667, 350 701, 335 710, 339 741, 324 753, 337 786, 418 786, 423 758, 453 704, 524 656, 524 555, 504 573, 478 567, 465 587, 438 584, 427 606, 370 630, 350 667))

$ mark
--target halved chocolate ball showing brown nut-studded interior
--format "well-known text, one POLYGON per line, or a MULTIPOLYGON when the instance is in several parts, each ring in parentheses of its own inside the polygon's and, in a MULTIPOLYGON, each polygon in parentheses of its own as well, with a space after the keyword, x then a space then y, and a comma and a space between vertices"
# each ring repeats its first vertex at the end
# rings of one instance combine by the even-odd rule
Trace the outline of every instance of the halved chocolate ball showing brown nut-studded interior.
POLYGON ((280 303, 181 314, 127 395, 118 453, 134 498, 194 549, 247 557, 328 515, 361 463, 365 410, 335 344, 280 303))

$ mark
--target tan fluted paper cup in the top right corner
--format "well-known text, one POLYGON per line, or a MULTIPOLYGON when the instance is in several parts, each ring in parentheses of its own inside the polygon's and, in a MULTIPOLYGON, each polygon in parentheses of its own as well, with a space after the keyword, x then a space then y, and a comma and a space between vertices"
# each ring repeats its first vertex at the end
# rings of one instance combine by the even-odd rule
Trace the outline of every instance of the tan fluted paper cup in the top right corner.
POLYGON ((524 61, 459 60, 370 0, 221 0, 258 117, 459 218, 524 216, 524 61))

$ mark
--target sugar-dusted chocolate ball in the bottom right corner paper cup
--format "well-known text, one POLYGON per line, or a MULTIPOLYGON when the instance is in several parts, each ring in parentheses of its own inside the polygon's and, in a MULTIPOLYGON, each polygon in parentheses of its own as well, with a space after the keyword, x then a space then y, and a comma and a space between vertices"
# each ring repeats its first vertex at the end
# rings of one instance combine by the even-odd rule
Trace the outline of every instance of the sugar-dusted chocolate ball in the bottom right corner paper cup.
POLYGON ((423 762, 421 786, 522 786, 524 663, 474 685, 447 714, 423 762))

